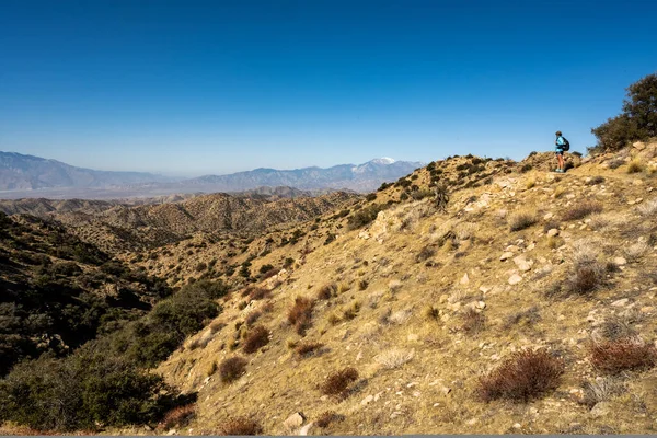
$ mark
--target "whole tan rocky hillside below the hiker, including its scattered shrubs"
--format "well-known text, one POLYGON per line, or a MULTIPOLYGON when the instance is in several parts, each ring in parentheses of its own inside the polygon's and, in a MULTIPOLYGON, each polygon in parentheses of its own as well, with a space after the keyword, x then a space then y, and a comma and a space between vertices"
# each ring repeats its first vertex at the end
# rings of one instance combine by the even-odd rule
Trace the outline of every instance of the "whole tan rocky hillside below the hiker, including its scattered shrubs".
POLYGON ((159 430, 652 433, 656 150, 564 175, 545 172, 551 154, 453 158, 307 223, 293 246, 244 242, 245 287, 158 368, 198 393, 196 416, 159 430), (518 351, 550 376, 514 390, 518 351))

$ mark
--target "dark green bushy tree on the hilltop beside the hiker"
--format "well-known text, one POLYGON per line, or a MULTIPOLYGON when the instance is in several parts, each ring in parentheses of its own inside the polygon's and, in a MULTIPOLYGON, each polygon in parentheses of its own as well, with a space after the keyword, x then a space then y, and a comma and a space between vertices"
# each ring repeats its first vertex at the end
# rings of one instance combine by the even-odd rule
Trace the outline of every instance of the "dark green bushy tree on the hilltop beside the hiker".
POLYGON ((623 113, 591 129, 598 145, 590 152, 624 148, 629 142, 657 137, 657 73, 627 87, 623 113))

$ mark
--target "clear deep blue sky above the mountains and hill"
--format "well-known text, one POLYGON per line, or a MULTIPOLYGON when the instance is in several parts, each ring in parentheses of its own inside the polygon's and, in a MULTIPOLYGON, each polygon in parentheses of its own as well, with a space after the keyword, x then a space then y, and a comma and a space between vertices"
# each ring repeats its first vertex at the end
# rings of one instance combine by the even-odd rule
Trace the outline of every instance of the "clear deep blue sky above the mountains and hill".
POLYGON ((657 1, 0 0, 0 150, 229 173, 575 150, 657 1))

